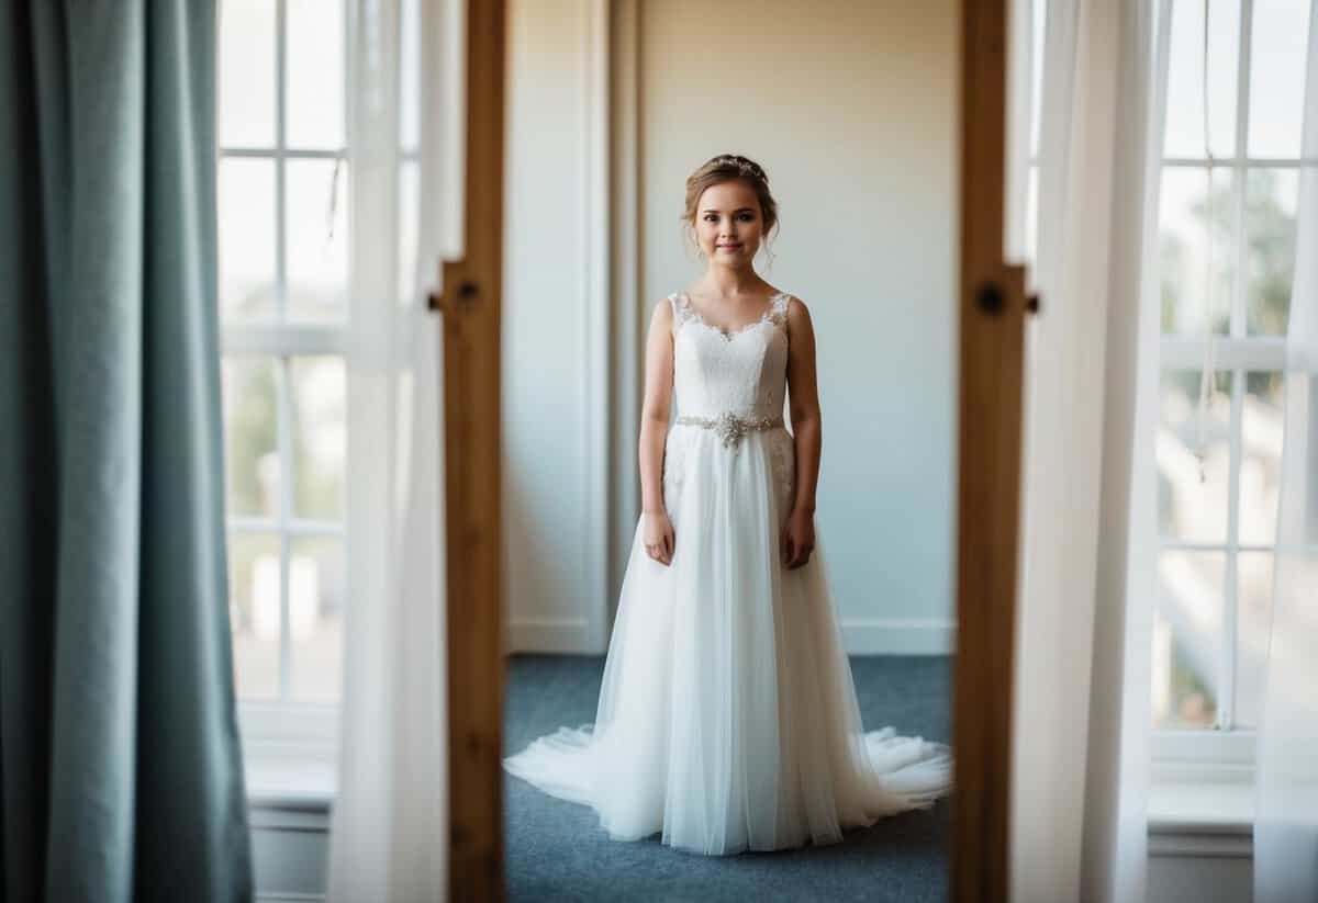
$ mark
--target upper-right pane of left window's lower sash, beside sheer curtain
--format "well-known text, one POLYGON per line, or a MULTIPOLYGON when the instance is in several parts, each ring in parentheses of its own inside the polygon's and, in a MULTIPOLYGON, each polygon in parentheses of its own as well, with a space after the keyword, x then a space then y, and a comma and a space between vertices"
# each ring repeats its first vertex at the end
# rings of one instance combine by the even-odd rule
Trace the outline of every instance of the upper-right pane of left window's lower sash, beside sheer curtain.
POLYGON ((343 358, 294 358, 293 508, 297 517, 343 519, 347 386, 343 358))

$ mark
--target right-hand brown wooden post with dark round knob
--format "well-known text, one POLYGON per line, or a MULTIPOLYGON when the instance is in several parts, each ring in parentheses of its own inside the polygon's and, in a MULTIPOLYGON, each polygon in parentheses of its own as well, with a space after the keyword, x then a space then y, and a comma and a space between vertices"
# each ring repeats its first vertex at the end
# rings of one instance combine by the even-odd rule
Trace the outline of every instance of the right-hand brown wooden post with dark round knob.
POLYGON ((962 0, 961 390, 952 899, 1008 895, 1024 269, 1003 262, 1006 0, 962 0), (995 287, 996 312, 977 303, 995 287))

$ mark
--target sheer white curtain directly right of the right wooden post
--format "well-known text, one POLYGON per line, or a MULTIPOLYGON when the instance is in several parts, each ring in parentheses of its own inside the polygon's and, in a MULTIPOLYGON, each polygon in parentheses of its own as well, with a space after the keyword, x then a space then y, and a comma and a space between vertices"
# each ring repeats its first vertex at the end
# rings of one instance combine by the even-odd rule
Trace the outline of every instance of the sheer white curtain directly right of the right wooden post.
POLYGON ((1165 41, 1152 0, 1040 0, 1033 14, 1043 307, 1025 357, 1011 898, 1128 903, 1144 898, 1147 846, 1159 307, 1145 261, 1165 41))

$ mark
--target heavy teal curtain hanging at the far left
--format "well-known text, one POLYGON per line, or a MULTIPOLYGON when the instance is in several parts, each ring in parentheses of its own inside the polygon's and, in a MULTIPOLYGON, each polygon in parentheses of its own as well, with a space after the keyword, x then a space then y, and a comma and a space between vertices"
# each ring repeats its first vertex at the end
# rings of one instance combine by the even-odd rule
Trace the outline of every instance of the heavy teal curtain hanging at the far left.
POLYGON ((0 903, 250 899, 215 0, 0 16, 0 903))

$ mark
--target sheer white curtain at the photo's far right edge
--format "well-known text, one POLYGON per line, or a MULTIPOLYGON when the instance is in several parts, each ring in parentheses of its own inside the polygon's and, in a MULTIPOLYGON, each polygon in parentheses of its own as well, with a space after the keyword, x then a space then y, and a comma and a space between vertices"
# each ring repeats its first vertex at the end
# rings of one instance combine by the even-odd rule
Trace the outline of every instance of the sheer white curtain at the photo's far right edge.
POLYGON ((1272 641, 1256 761, 1257 903, 1318 899, 1318 3, 1307 54, 1272 641))

